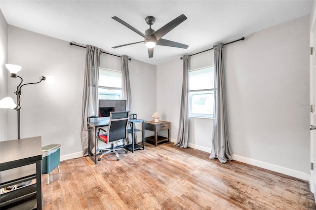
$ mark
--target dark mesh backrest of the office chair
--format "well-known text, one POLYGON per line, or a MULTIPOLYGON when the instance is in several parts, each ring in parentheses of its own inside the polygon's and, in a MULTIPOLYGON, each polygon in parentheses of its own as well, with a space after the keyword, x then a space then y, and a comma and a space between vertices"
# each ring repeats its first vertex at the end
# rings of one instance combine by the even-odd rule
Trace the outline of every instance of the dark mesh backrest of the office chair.
POLYGON ((129 111, 110 112, 108 140, 115 141, 127 138, 129 111))

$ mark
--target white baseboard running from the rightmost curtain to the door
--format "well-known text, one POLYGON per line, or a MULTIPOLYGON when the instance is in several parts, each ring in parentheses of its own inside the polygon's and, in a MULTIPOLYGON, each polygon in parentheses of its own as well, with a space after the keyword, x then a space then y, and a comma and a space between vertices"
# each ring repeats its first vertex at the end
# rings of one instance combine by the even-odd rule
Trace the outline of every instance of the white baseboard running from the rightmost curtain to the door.
POLYGON ((240 161, 242 163, 247 163, 253 166, 257 166, 263 169, 268 169, 270 171, 274 171, 280 174, 284 174, 284 175, 289 175, 289 176, 293 176, 295 178, 300 178, 306 181, 310 180, 310 174, 305 173, 305 172, 300 172, 300 171, 296 171, 293 169, 288 169, 288 168, 284 168, 281 166, 276 166, 270 163, 266 163, 266 162, 262 162, 259 160, 254 160, 254 159, 250 159, 250 158, 246 158, 246 157, 242 157, 239 155, 232 155, 232 159, 233 160, 237 160, 240 161))

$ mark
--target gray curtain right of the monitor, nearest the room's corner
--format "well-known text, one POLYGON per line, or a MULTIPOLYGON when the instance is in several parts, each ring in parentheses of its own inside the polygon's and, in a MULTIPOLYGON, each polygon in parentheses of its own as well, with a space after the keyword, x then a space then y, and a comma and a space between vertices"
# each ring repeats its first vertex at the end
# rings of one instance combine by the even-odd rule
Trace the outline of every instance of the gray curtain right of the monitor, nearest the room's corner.
MULTIPOLYGON (((126 100, 126 110, 129 110, 129 113, 133 113, 132 92, 130 89, 130 82, 129 82, 127 55, 122 55, 121 66, 122 66, 122 98, 123 100, 126 100)), ((131 142, 130 138, 128 138, 128 140, 131 142)), ((137 143, 136 134, 134 134, 134 142, 137 143)))

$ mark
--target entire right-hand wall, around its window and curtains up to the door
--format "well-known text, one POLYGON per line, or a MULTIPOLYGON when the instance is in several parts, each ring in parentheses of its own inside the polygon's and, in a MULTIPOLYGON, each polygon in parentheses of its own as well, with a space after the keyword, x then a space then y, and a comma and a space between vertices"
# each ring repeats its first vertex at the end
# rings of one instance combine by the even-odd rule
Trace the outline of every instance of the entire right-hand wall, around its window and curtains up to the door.
MULTIPOLYGON (((308 179, 309 17, 247 35, 223 56, 234 158, 308 179)), ((190 57, 191 66, 212 60, 211 51, 190 57)), ((157 74, 158 110, 177 131, 182 61, 159 65, 157 74)), ((189 145, 210 151, 212 120, 192 121, 189 145)))

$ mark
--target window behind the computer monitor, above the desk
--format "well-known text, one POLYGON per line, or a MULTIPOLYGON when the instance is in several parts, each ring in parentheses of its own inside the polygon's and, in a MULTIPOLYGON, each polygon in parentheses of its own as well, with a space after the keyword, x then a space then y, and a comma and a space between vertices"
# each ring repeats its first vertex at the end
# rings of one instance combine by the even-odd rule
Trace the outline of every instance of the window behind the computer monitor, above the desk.
POLYGON ((122 73, 116 70, 99 70, 99 99, 119 100, 122 95, 122 73))

